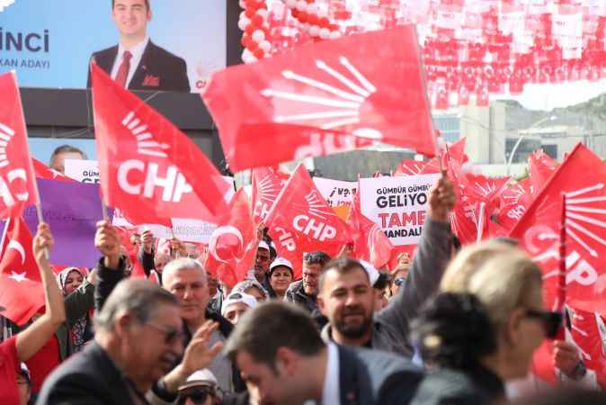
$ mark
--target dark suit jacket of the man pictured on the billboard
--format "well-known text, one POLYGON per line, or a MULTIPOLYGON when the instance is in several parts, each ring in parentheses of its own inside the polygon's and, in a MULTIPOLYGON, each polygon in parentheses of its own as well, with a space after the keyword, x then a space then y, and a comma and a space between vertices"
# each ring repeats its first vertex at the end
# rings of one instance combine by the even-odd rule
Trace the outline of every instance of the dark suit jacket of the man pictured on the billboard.
MULTIPOLYGON (((91 61, 111 75, 111 67, 118 56, 118 45, 94 52, 91 61)), ((174 56, 158 47, 151 40, 147 44, 141 61, 129 83, 129 90, 189 92, 190 81, 183 58, 174 56)), ((91 86, 90 71, 87 87, 91 86)))

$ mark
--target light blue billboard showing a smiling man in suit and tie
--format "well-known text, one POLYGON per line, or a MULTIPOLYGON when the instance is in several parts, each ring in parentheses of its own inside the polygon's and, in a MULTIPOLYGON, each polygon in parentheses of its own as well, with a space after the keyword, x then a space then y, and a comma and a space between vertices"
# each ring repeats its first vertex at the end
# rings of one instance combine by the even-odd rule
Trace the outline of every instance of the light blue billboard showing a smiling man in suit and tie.
POLYGON ((226 66, 226 52, 227 0, 15 0, 0 9, 0 73, 16 70, 25 87, 85 88, 94 60, 130 90, 195 93, 226 66))

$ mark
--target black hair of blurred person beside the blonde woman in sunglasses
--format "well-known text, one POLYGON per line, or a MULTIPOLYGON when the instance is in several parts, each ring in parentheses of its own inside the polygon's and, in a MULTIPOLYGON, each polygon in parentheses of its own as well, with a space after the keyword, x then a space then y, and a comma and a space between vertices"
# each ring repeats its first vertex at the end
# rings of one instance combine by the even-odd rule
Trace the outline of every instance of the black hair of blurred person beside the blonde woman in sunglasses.
POLYGON ((495 329, 474 294, 439 293, 413 321, 413 341, 423 360, 434 365, 470 369, 495 353, 495 329))

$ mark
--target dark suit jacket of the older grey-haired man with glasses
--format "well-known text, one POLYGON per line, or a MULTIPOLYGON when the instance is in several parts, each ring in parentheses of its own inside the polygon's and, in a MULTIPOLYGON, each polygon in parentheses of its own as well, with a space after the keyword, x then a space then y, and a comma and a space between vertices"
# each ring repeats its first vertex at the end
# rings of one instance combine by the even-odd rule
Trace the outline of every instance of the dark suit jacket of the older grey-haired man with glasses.
POLYGON ((42 385, 36 401, 37 405, 132 403, 127 380, 96 342, 59 365, 42 385))

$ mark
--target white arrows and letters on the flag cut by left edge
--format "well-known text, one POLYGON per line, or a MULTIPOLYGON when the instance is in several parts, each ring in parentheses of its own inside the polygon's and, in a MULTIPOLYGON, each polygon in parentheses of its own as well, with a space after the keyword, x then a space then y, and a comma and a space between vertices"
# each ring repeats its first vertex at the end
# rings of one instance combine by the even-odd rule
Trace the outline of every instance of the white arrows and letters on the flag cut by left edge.
MULTIPOLYGON (((4 167, 10 166, 8 146, 13 140, 15 132, 12 128, 0 122, 0 172, 4 167)), ((6 173, 0 173, 0 198, 6 207, 13 207, 16 202, 27 202, 30 193, 27 191, 27 171, 22 167, 15 167, 6 173), (22 184, 20 184, 22 183, 22 184)))

